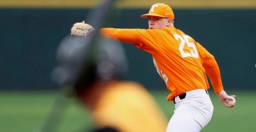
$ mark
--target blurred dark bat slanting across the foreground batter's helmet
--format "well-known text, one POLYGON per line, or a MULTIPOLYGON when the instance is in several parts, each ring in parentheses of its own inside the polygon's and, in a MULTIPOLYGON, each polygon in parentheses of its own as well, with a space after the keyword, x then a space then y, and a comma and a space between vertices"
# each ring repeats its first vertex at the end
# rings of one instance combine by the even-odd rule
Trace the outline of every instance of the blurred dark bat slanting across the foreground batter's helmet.
POLYGON ((85 75, 87 74, 87 68, 90 66, 88 64, 94 63, 96 61, 97 52, 97 41, 99 38, 99 30, 101 26, 106 22, 107 18, 109 17, 109 13, 111 13, 112 5, 115 0, 106 0, 99 6, 95 7, 92 11, 89 12, 87 18, 85 19, 85 23, 92 25, 95 28, 93 35, 88 38, 88 46, 81 47, 82 50, 86 50, 87 54, 79 54, 77 56, 77 67, 73 71, 73 75, 68 81, 62 82, 59 84, 59 88, 62 90, 58 97, 56 97, 55 102, 50 110, 43 127, 40 129, 42 132, 53 132, 56 131, 60 125, 60 121, 65 114, 65 111, 69 105, 67 101, 67 95, 72 94, 72 89, 76 85, 83 81, 85 75), (85 59, 86 58, 86 59, 85 59))

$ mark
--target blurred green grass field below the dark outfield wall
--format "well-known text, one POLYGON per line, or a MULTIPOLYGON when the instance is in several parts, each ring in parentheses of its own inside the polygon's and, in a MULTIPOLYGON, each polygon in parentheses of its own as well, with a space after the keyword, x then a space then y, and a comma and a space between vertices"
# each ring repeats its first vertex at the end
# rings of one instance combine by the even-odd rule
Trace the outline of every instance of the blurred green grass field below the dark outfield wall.
MULTIPOLYGON (((151 91, 168 119, 174 110, 173 102, 166 101, 167 91, 151 91)), ((236 107, 226 108, 209 90, 214 105, 212 120, 202 132, 255 132, 256 91, 227 91, 236 95, 236 107)), ((57 92, 0 91, 0 129, 2 132, 37 132, 49 113, 57 92)), ((93 126, 89 112, 75 100, 60 122, 59 132, 73 132, 93 126)))

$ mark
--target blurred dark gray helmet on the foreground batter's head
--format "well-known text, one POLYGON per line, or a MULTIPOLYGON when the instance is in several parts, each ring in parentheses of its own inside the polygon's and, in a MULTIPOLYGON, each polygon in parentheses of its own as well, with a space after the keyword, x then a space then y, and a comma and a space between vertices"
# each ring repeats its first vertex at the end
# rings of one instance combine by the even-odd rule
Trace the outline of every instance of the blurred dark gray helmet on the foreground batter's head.
POLYGON ((65 37, 56 52, 52 79, 58 85, 90 85, 96 79, 120 79, 127 72, 127 58, 119 41, 99 38, 92 49, 87 39, 65 37), (96 54, 95 54, 96 53, 96 54))

